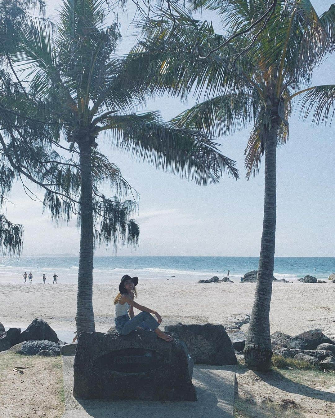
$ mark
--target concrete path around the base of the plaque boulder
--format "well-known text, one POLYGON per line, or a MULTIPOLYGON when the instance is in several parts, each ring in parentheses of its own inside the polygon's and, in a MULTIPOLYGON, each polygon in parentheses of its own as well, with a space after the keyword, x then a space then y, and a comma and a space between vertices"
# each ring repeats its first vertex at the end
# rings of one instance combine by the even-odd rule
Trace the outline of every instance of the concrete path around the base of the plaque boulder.
POLYGON ((198 364, 193 371, 196 402, 77 400, 72 395, 74 356, 62 356, 63 418, 233 418, 235 372, 229 366, 198 364))

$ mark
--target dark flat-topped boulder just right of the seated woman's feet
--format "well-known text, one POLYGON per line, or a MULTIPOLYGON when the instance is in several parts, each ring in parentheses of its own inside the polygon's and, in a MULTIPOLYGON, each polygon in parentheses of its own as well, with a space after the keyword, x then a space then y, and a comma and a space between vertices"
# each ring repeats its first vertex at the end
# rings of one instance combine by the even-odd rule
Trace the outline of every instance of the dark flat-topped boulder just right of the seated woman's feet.
POLYGON ((232 342, 222 325, 168 325, 165 331, 186 344, 195 363, 236 364, 232 342))

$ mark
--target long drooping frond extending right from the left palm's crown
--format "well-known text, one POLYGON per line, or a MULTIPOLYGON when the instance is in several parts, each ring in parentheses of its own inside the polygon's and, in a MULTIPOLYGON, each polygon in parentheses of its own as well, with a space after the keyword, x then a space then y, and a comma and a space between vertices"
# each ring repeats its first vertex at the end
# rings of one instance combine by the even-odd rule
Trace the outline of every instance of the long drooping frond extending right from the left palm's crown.
POLYGON ((101 130, 108 130, 113 143, 139 161, 199 185, 217 183, 224 172, 238 178, 235 161, 222 155, 208 135, 165 124, 157 112, 111 116, 101 130))

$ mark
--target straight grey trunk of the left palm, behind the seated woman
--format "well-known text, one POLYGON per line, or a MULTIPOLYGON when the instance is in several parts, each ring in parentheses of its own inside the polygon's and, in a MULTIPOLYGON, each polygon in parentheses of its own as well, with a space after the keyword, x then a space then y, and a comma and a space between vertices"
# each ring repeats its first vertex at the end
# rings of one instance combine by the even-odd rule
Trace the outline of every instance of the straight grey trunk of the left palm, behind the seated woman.
POLYGON ((89 141, 79 145, 81 198, 80 198, 80 250, 77 291, 77 336, 81 331, 94 332, 93 314, 93 209, 91 147, 89 141))

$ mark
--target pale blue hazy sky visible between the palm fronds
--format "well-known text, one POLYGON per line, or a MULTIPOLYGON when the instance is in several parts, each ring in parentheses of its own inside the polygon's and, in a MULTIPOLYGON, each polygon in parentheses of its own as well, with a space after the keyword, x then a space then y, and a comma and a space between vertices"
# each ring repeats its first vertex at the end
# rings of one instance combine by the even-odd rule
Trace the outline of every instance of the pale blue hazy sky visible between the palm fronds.
MULTIPOLYGON (((61 3, 47 2, 49 13, 61 3)), ((331 1, 312 1, 318 13, 331 1)), ((132 15, 129 13, 129 18, 132 15)), ((213 16, 203 14, 211 20, 213 16)), ((121 16, 124 40, 120 53, 134 43, 127 36, 127 17, 121 16)), ((216 29, 219 31, 219 27, 216 29)), ((335 82, 334 56, 315 71, 314 84, 335 82)), ((159 98, 141 110, 160 110, 168 120, 194 104, 159 98)), ((199 187, 190 181, 162 173, 146 163, 137 163, 108 140, 99 138, 100 150, 116 163, 126 180, 140 194, 139 248, 119 248, 117 255, 213 255, 258 256, 263 222, 264 170, 245 180, 243 151, 251 126, 239 133, 217 138, 224 155, 237 161, 240 180, 225 177, 216 186, 199 187)), ((334 257, 335 248, 335 142, 333 127, 312 127, 310 120, 290 120, 287 145, 277 153, 276 256, 334 257)), ((263 161, 264 163, 264 161, 263 161)), ((108 191, 106 191, 108 195, 108 191)), ((25 227, 23 255, 79 253, 76 220, 57 226, 42 216, 39 202, 31 201, 16 185, 7 204, 6 216, 25 227)), ((5 212, 5 209, 4 209, 5 212)), ((96 255, 113 255, 113 249, 98 249, 96 255)))

